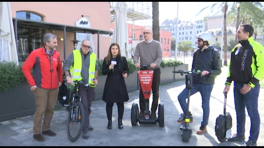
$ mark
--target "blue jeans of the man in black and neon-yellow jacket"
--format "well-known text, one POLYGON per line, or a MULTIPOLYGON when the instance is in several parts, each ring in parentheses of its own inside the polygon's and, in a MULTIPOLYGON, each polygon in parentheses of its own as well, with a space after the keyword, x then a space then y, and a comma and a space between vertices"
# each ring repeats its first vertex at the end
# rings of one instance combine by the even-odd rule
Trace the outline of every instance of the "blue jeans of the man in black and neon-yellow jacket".
POLYGON ((258 134, 260 133, 260 114, 258 113, 258 95, 260 93, 260 84, 242 95, 240 89, 244 83, 234 83, 234 100, 235 100, 235 111, 237 112, 237 135, 245 135, 245 122, 247 107, 248 115, 251 121, 250 136, 249 140, 257 142, 258 134))

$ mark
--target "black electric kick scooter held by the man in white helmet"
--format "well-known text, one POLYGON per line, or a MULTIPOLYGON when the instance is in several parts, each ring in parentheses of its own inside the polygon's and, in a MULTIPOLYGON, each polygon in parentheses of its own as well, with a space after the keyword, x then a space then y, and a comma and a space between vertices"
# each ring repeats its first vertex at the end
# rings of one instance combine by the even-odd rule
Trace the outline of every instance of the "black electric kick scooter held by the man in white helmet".
POLYGON ((190 106, 190 96, 191 96, 191 89, 192 89, 192 83, 193 83, 193 75, 201 73, 200 70, 197 72, 193 71, 183 71, 183 70, 178 70, 178 71, 173 71, 173 73, 180 73, 182 76, 183 74, 185 75, 186 81, 185 85, 186 88, 188 89, 188 101, 187 101, 187 110, 185 114, 181 113, 181 118, 185 118, 185 123, 182 123, 180 125, 180 129, 182 130, 181 136, 182 136, 182 141, 183 142, 189 142, 190 137, 192 136, 192 130, 190 129, 190 119, 191 119, 191 112, 189 111, 189 106, 190 106))

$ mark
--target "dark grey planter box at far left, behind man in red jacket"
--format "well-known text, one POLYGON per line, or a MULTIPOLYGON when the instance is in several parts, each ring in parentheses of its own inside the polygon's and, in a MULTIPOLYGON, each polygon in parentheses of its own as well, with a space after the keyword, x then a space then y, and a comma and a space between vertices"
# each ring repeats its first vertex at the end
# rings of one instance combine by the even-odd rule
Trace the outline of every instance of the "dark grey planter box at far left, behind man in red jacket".
MULTIPOLYGON (((21 83, 12 90, 0 92, 0 122, 35 114, 35 97, 28 83, 21 83)), ((57 101, 55 108, 62 107, 57 101)))

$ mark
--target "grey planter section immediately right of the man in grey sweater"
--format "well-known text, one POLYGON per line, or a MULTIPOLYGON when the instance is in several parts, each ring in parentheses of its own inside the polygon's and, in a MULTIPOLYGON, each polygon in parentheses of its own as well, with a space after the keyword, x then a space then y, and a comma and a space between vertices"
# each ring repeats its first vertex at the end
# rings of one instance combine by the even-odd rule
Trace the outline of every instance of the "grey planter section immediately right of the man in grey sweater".
POLYGON ((172 71, 174 71, 174 66, 173 67, 161 67, 161 83, 162 84, 166 84, 166 83, 172 83, 174 82, 173 80, 173 73, 172 71))

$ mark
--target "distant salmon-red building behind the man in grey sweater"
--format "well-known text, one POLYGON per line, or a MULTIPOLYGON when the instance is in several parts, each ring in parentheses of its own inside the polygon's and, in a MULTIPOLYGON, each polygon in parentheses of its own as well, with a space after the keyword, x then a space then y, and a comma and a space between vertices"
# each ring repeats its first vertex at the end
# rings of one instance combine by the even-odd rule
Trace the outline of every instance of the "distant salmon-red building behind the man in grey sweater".
MULTIPOLYGON (((142 39, 144 40, 143 37, 143 30, 147 28, 144 26, 139 26, 139 25, 134 25, 134 29, 132 29, 132 24, 128 23, 128 38, 129 38, 129 44, 131 44, 131 39, 132 39, 132 30, 134 30, 134 38, 136 39, 142 39)), ((111 29, 114 29, 114 23, 111 23, 111 29)), ((161 30, 159 33, 159 42, 161 43, 162 50, 166 52, 171 51, 171 32, 168 31, 163 31, 161 30)))

